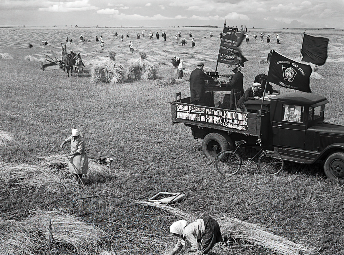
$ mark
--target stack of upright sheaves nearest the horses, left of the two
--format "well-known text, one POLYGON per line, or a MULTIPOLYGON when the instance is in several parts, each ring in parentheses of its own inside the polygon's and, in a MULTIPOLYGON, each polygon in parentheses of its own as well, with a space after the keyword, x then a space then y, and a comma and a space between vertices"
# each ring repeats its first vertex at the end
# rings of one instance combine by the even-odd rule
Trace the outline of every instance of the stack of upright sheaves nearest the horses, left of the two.
POLYGON ((125 68, 116 63, 116 53, 109 52, 109 60, 95 62, 91 70, 91 82, 122 83, 126 78, 125 68))

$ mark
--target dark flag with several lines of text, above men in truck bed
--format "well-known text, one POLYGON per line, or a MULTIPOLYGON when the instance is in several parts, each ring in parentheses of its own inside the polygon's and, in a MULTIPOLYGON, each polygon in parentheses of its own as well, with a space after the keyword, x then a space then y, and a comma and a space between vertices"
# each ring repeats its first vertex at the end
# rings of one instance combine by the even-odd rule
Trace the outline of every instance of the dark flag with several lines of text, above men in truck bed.
POLYGON ((224 27, 217 62, 228 65, 241 64, 241 66, 243 66, 247 59, 238 49, 243 38, 244 35, 242 33, 238 33, 228 27, 224 27))

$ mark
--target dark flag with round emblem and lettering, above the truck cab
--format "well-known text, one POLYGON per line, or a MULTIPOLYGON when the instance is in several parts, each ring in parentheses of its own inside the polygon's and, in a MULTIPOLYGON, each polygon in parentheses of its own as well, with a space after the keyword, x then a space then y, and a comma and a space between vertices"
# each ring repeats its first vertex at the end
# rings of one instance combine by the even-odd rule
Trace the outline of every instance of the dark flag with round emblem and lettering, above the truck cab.
POLYGON ((309 77, 312 68, 272 51, 267 81, 281 87, 311 92, 309 77))

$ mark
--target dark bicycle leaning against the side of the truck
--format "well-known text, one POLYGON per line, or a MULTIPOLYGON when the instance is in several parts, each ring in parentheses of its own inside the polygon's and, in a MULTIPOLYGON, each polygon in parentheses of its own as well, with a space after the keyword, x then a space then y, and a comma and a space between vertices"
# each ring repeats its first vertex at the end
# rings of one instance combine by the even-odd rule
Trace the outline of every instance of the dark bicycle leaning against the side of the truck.
POLYGON ((277 175, 279 174, 284 166, 284 161, 282 156, 275 151, 264 150, 262 147, 261 139, 257 140, 256 145, 244 145, 246 143, 245 140, 236 141, 235 145, 237 146, 235 151, 233 150, 225 150, 220 152, 215 158, 215 165, 217 171, 222 175, 234 175, 238 173, 241 166, 245 165, 242 163, 241 159, 246 159, 243 155, 243 152, 239 148, 253 148, 253 147, 260 147, 260 151, 252 158, 247 159, 247 164, 257 157, 257 167, 258 169, 265 174, 268 175, 277 175), (237 153, 238 152, 238 153, 237 153), (239 155, 238 155, 239 154, 239 155))

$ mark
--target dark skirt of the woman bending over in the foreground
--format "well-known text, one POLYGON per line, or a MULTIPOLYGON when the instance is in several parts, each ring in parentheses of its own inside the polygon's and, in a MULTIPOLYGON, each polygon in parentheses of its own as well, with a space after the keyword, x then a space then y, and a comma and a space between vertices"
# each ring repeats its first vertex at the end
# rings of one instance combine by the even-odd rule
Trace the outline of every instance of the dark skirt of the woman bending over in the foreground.
POLYGON ((207 254, 216 243, 222 242, 222 235, 220 226, 210 216, 201 217, 204 221, 205 233, 202 236, 202 250, 204 254, 207 254))

